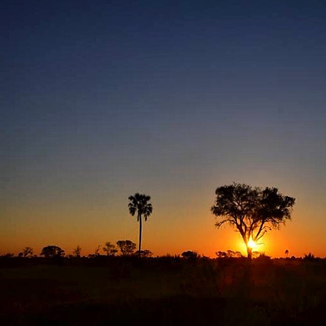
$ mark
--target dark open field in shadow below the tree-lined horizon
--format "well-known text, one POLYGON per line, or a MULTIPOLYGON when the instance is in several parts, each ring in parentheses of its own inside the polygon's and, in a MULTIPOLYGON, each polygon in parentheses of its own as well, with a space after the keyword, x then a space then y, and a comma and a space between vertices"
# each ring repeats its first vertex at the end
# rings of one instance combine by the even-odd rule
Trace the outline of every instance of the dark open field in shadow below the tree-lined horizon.
POLYGON ((326 262, 8 260, 0 324, 326 324, 326 262))

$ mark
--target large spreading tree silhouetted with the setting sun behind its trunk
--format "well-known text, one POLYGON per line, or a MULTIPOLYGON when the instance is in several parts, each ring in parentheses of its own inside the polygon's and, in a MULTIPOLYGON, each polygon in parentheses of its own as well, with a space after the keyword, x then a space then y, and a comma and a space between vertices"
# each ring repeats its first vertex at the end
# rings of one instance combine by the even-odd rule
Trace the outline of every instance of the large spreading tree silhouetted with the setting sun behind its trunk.
POLYGON ((250 242, 260 240, 267 230, 279 228, 291 218, 295 199, 279 193, 277 188, 261 189, 247 184, 233 183, 216 188, 216 199, 211 212, 220 221, 220 228, 227 223, 237 229, 252 258, 250 242))

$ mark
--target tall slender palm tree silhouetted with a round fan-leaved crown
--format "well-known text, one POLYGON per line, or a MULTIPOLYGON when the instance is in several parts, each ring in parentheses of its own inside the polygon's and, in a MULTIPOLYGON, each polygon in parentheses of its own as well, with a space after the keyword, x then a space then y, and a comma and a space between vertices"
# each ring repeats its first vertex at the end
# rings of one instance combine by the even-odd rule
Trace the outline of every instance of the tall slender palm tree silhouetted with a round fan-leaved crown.
POLYGON ((137 213, 137 222, 139 222, 139 247, 138 254, 141 255, 141 243, 142 243, 142 216, 147 221, 148 216, 152 213, 153 207, 149 203, 151 197, 145 194, 135 193, 133 196, 129 196, 129 212, 132 216, 137 213))

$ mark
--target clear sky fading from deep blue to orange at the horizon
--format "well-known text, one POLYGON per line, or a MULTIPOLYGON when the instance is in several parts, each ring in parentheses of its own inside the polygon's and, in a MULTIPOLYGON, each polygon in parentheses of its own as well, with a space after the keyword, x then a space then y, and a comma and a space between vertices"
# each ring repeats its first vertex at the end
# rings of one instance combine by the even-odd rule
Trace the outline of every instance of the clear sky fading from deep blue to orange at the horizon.
POLYGON ((326 4, 4 1, 0 254, 243 251, 216 229, 216 187, 275 186, 292 221, 273 257, 326 256, 326 4))

